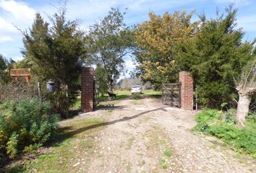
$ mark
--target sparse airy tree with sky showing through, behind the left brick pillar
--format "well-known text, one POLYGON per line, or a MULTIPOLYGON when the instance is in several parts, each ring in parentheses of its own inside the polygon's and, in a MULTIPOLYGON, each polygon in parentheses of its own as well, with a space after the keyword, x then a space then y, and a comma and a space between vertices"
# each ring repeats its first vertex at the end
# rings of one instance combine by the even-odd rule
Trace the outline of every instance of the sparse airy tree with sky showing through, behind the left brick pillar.
POLYGON ((128 55, 133 43, 133 32, 124 24, 123 15, 119 9, 111 8, 88 33, 90 60, 98 66, 99 82, 106 82, 110 93, 113 93, 115 79, 124 71, 124 56, 128 55))

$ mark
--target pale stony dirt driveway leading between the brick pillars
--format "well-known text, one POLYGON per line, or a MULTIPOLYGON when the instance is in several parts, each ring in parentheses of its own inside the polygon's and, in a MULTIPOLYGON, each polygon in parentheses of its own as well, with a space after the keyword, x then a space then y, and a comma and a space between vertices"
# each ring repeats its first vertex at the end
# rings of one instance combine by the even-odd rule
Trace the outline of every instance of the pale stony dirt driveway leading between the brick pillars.
POLYGON ((195 111, 162 105, 160 99, 114 102, 114 106, 109 102, 107 107, 77 117, 103 117, 107 122, 94 138, 97 146, 90 164, 74 164, 77 171, 255 171, 255 163, 248 156, 234 153, 216 138, 193 132, 195 111))

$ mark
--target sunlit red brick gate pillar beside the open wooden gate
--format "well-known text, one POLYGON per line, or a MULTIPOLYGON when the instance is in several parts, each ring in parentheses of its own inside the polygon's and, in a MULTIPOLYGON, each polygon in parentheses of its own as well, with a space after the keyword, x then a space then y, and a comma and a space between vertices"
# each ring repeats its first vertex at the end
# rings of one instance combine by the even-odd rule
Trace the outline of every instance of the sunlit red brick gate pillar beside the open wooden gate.
POLYGON ((193 78, 187 71, 179 72, 179 82, 182 83, 180 94, 183 110, 193 110, 194 107, 194 88, 193 78))

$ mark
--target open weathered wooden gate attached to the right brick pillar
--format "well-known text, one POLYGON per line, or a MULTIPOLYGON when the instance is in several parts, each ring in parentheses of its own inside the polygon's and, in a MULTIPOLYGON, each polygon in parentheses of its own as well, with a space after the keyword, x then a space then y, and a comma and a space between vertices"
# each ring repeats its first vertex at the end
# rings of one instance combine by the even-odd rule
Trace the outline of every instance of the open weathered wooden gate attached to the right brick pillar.
POLYGON ((162 102, 165 105, 181 107, 181 83, 163 84, 162 102))

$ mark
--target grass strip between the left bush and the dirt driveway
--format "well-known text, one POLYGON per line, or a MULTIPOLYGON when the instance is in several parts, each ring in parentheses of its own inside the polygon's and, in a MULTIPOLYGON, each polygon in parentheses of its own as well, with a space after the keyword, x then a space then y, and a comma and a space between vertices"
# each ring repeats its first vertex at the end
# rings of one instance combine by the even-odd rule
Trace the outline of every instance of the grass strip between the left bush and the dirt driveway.
POLYGON ((101 118, 72 120, 69 125, 61 127, 64 130, 59 132, 58 138, 52 143, 51 151, 40 154, 35 161, 26 161, 24 167, 14 165, 5 172, 70 172, 70 168, 74 169, 72 165, 75 164, 72 159, 79 157, 79 154, 88 158, 94 154, 96 144, 93 139, 102 128, 86 128, 100 123, 103 123, 101 118), (82 130, 83 128, 86 130, 82 130))

